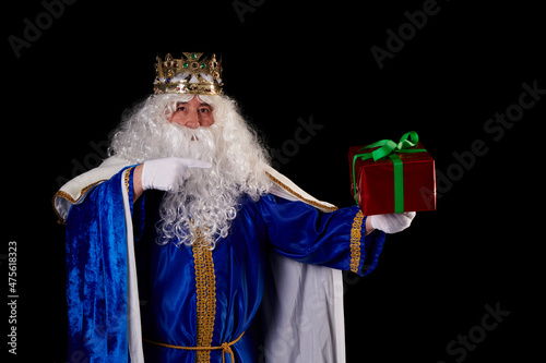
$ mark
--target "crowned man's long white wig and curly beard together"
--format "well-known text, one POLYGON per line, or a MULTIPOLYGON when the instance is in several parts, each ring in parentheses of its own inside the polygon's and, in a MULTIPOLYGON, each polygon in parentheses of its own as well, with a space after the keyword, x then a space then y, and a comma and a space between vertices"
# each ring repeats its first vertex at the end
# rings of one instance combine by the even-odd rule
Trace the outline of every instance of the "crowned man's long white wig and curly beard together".
POLYGON ((191 169, 179 191, 165 194, 156 228, 159 244, 190 245, 199 231, 214 249, 228 235, 241 196, 258 201, 269 191, 269 155, 226 96, 197 96, 212 106, 215 122, 209 128, 170 123, 177 102, 193 97, 154 95, 133 107, 112 133, 109 154, 132 164, 173 156, 211 162, 211 169, 191 169))

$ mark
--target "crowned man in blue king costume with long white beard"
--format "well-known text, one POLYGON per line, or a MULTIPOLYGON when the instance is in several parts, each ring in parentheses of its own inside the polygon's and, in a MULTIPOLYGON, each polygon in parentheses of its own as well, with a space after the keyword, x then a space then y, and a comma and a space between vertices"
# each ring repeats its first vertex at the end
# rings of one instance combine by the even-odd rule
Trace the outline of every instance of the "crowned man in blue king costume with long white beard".
POLYGON ((156 74, 111 156, 54 197, 69 360, 344 362, 341 271, 369 274, 415 214, 336 208, 271 168, 214 55, 156 74))

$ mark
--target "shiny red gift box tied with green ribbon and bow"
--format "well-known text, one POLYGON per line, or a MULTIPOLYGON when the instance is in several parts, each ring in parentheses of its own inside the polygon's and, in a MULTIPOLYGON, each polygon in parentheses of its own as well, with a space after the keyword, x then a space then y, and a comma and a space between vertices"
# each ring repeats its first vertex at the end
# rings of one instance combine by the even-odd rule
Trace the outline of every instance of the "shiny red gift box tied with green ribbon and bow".
POLYGON ((399 144, 351 147, 348 159, 352 192, 364 215, 436 210, 435 160, 417 133, 404 134, 399 144))

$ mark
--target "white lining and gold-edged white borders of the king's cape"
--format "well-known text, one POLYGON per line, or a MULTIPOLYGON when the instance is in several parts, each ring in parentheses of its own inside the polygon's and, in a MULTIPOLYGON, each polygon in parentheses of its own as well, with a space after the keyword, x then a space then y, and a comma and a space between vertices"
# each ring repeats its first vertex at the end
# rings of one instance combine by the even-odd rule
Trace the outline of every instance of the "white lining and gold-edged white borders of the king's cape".
MULTIPOLYGON (((59 222, 67 220, 70 208, 82 203, 94 186, 128 166, 128 161, 110 157, 98 168, 64 184, 52 201, 59 222)), ((327 213, 337 209, 312 197, 275 169, 264 166, 264 170, 274 183, 270 193, 289 201, 301 201, 327 213)), ((131 361, 140 363, 144 362, 144 358, 131 206, 124 185, 121 191, 127 231, 127 340, 131 361)), ((269 263, 272 280, 265 281, 262 300, 262 304, 268 304, 262 308, 265 331, 263 347, 258 347, 259 353, 266 362, 345 362, 342 271, 301 264, 277 254, 271 254, 269 263), (305 324, 295 324, 294 316, 299 316, 299 322, 305 324)))

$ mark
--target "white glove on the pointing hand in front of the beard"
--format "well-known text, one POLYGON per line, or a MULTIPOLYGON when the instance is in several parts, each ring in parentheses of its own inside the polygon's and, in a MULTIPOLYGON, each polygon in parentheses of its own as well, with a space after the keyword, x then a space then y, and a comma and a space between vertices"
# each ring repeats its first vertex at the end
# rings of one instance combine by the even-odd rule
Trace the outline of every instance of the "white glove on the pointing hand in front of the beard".
POLYGON ((145 161, 142 166, 142 189, 147 191, 176 192, 190 178, 191 168, 211 168, 206 161, 182 158, 165 158, 145 161))

